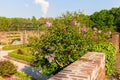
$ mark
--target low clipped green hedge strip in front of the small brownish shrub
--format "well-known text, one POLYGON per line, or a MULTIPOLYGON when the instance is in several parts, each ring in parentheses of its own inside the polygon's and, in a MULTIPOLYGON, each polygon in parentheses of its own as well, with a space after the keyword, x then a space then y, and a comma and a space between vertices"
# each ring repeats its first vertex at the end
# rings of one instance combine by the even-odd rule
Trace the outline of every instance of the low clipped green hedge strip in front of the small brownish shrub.
POLYGON ((13 58, 17 58, 17 59, 20 59, 20 60, 24 60, 24 61, 27 61, 27 62, 31 62, 32 59, 33 59, 33 56, 31 56, 31 55, 26 56, 24 54, 22 54, 22 55, 17 54, 17 51, 10 52, 8 54, 8 56, 13 57, 13 58))

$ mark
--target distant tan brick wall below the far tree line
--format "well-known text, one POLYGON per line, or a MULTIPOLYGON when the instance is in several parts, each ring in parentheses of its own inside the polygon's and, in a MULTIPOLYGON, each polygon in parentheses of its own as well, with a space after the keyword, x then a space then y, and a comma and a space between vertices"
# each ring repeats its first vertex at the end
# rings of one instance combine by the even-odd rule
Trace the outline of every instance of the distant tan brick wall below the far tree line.
POLYGON ((43 35, 43 31, 4 31, 0 32, 0 43, 8 44, 12 39, 20 38, 22 43, 28 43, 29 36, 43 35), (17 33, 17 34, 10 34, 17 33), (18 34, 19 33, 19 34, 18 34))

